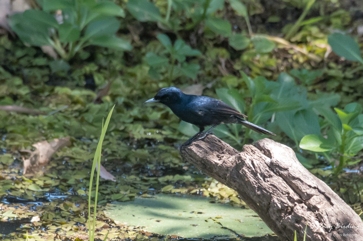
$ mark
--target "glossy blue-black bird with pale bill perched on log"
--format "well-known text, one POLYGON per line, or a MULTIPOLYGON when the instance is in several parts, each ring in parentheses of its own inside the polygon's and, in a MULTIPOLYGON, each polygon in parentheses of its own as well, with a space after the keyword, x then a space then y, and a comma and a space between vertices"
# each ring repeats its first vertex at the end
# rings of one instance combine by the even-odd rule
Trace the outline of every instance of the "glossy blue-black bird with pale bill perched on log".
POLYGON ((175 87, 167 87, 159 90, 154 98, 145 101, 145 103, 160 102, 168 106, 173 113, 185 122, 191 123, 199 127, 199 132, 192 136, 183 145, 189 145, 196 136, 197 140, 205 138, 211 134, 211 130, 221 123, 224 124, 242 124, 253 131, 260 134, 274 135, 262 127, 259 127, 244 118, 247 116, 238 112, 233 107, 227 105, 223 101, 216 100, 207 96, 196 96, 192 94, 184 94, 180 89, 175 87), (205 126, 212 126, 208 131, 204 131, 205 126))

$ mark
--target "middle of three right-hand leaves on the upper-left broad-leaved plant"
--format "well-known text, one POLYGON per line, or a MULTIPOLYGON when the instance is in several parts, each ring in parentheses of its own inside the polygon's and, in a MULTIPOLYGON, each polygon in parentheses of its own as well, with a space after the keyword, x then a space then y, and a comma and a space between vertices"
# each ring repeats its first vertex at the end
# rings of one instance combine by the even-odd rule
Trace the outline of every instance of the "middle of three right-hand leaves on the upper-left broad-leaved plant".
MULTIPOLYGON (((90 22, 82 39, 95 38, 103 35, 113 35, 120 28, 120 22, 115 17, 90 22)), ((90 39, 92 41, 92 39, 90 39)))

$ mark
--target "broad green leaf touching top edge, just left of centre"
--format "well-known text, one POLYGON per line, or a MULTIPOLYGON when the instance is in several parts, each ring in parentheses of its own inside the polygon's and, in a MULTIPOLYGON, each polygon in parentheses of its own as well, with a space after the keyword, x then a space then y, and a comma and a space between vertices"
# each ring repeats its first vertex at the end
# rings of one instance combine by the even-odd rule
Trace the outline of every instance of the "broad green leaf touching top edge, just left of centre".
POLYGON ((148 0, 129 0, 127 1, 126 6, 132 16, 141 22, 163 21, 159 8, 155 7, 155 5, 148 0))

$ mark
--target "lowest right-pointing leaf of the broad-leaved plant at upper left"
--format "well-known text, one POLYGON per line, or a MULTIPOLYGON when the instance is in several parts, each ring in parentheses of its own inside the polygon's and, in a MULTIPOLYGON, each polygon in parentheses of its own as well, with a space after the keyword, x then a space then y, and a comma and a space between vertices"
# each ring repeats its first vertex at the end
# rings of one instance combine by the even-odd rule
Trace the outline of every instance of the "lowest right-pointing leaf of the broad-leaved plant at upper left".
POLYGON ((98 45, 106 48, 130 51, 132 46, 129 41, 116 36, 103 35, 93 37, 88 41, 89 45, 98 45))

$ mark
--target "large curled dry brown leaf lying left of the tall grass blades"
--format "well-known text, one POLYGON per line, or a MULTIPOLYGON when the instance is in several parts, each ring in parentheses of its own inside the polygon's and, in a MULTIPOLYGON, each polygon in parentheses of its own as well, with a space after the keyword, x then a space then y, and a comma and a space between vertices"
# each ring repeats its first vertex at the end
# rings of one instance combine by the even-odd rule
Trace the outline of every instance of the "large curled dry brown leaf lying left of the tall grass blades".
POLYGON ((40 141, 33 144, 36 148, 35 151, 20 150, 21 157, 23 158, 24 171, 31 170, 32 172, 37 171, 40 167, 45 166, 50 161, 52 155, 60 148, 70 145, 70 138, 64 137, 60 139, 54 139, 50 143, 48 141, 40 141), (25 155, 29 155, 28 158, 25 155))

